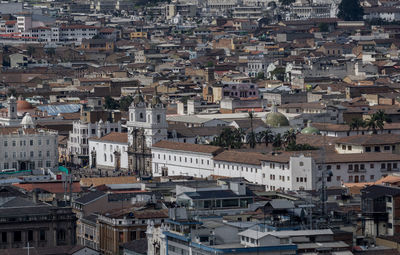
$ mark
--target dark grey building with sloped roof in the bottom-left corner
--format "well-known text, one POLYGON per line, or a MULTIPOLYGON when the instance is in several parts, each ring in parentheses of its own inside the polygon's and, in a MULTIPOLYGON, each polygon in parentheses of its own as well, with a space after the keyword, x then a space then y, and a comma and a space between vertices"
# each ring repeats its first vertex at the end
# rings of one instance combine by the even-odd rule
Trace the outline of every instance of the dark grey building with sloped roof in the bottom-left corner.
MULTIPOLYGON (((75 245, 75 215, 71 208, 33 201, 25 194, 2 187, 0 206, 0 249, 60 247, 75 245)), ((34 194, 35 196, 35 194, 34 194)))

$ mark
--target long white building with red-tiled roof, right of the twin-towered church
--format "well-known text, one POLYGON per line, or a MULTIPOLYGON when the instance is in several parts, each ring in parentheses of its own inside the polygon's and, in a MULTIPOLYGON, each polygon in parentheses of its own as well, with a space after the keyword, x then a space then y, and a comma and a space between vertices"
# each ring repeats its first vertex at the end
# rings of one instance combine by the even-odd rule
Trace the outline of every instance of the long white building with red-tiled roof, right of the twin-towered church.
POLYGON ((337 151, 326 153, 262 154, 163 141, 152 148, 153 175, 246 177, 267 190, 313 190, 321 187, 322 178, 329 187, 341 186, 343 182, 374 182, 400 170, 397 153, 348 153, 348 146, 352 145, 346 145, 345 151, 337 145, 337 151))

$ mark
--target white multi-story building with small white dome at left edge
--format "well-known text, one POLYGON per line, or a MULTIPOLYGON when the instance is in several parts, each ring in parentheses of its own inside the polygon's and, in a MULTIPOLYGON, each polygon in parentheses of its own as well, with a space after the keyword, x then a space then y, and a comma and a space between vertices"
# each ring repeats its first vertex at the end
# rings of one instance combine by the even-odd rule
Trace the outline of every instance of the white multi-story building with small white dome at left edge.
POLYGON ((58 166, 58 133, 35 128, 27 113, 22 127, 0 129, 0 169, 34 170, 58 166))

